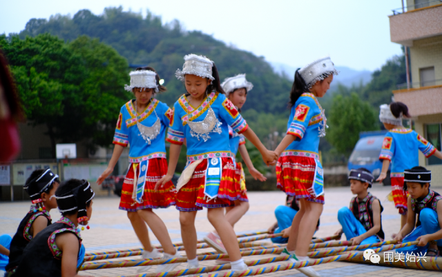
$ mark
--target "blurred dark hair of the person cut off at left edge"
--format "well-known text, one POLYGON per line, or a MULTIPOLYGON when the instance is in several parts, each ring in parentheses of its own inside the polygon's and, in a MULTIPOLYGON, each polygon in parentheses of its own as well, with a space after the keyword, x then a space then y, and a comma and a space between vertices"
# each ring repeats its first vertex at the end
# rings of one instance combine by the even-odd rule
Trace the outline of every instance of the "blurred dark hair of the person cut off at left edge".
POLYGON ((8 61, 6 61, 5 54, 0 49, 0 85, 3 87, 6 103, 13 119, 16 121, 23 121, 23 109, 19 100, 19 93, 15 86, 14 79, 8 68, 8 61))

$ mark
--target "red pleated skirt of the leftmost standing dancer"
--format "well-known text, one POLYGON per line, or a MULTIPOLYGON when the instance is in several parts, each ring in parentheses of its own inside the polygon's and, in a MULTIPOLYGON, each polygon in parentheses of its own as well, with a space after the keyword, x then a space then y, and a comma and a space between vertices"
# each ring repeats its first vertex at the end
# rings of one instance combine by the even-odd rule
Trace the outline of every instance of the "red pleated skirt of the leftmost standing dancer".
MULTIPOLYGON (((137 164, 137 174, 138 172, 140 172, 140 163, 137 164)), ((175 186, 172 182, 166 183, 164 187, 155 190, 155 184, 157 181, 160 181, 166 173, 166 158, 151 158, 149 160, 142 203, 137 203, 132 199, 134 172, 133 164, 131 164, 126 178, 124 178, 119 209, 128 212, 137 212, 137 209, 157 209, 175 205, 175 194, 172 192, 175 186)))

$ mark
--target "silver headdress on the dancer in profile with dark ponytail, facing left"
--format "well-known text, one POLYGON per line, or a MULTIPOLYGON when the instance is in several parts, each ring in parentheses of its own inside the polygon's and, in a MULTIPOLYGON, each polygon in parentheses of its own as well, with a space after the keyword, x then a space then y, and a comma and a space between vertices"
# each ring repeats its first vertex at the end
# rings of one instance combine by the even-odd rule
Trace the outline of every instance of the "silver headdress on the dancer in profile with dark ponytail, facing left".
POLYGON ((318 59, 299 70, 299 74, 304 79, 308 89, 311 89, 317 81, 322 81, 331 74, 338 75, 338 73, 330 57, 318 59))

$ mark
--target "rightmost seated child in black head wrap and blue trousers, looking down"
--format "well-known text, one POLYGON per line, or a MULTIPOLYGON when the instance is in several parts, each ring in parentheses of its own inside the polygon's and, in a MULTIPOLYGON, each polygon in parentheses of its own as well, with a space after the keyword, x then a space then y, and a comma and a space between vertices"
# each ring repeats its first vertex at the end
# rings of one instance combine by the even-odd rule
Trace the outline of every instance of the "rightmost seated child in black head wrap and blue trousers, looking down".
POLYGON ((407 223, 394 237, 398 242, 419 240, 418 245, 396 249, 396 252, 415 252, 437 256, 442 246, 442 196, 430 189, 431 171, 416 166, 404 171, 403 189, 408 192, 407 223), (416 221, 417 215, 417 221, 416 221))

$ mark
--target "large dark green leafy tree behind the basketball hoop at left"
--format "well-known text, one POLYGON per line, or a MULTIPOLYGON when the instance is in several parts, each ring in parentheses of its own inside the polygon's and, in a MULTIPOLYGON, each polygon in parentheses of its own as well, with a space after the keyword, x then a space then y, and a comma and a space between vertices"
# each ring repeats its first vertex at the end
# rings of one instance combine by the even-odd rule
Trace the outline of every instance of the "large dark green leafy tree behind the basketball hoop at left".
POLYGON ((50 34, 0 37, 23 110, 33 125, 44 124, 55 156, 56 143, 86 140, 108 145, 119 107, 130 94, 128 65, 112 48, 79 37, 72 43, 50 34))

